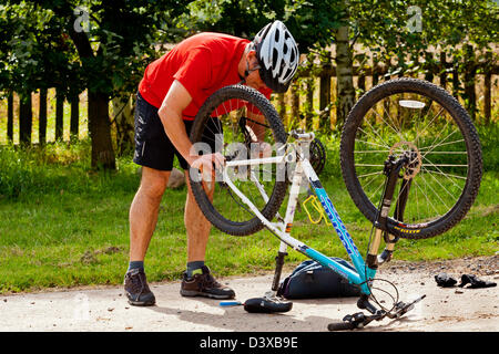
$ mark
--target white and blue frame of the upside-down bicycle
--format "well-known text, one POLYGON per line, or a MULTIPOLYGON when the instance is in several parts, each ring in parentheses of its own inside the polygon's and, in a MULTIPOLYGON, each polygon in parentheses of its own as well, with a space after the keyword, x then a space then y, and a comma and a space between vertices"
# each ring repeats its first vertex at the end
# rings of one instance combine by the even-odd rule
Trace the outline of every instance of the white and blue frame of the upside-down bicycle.
MULTIPOLYGON (((338 212, 336 211, 333 201, 328 197, 326 190, 322 186, 319 178, 317 177, 314 168, 312 167, 309 160, 307 158, 303 158, 303 142, 309 142, 314 139, 314 134, 299 134, 298 140, 289 144, 288 146, 293 146, 296 152, 296 167, 294 169, 293 181, 289 191, 289 200, 286 207, 286 215, 284 217, 284 221, 281 222, 272 222, 266 219, 256 208, 246 196, 241 192, 240 189, 233 184, 228 176, 228 169, 235 166, 253 166, 261 164, 283 164, 285 162, 291 162, 289 156, 292 153, 287 150, 283 156, 276 157, 267 157, 267 158, 254 158, 254 159, 244 159, 244 160, 232 160, 225 163, 224 166, 224 183, 226 183, 230 188, 242 199, 244 204, 246 204, 249 209, 255 214, 255 216, 267 227, 275 236, 281 239, 281 248, 279 252, 286 252, 287 247, 292 247, 294 250, 307 256, 308 258, 317 261, 318 263, 332 269, 336 273, 338 273, 344 279, 348 280, 349 283, 356 284, 360 287, 360 292, 364 295, 370 295, 369 283, 374 280, 376 275, 376 269, 369 268, 367 263, 364 261, 364 258, 359 253, 357 247, 355 246, 354 240, 348 233, 344 222, 342 221, 338 212), (306 246, 302 241, 293 238, 291 236, 291 230, 293 226, 293 219, 296 210, 296 206, 298 202, 299 188, 302 185, 303 178, 307 178, 312 188, 314 189, 317 198, 319 199, 326 215, 332 222, 336 233, 339 237, 343 246, 345 247, 353 264, 355 271, 344 267, 343 264, 332 260, 329 257, 314 250, 313 248, 306 246)), ((292 156, 293 157, 293 156, 292 156)), ((254 183, 258 187, 258 181, 253 178, 254 183)), ((268 200, 268 196, 266 196, 265 190, 262 186, 258 187, 262 197, 265 201, 268 200)))

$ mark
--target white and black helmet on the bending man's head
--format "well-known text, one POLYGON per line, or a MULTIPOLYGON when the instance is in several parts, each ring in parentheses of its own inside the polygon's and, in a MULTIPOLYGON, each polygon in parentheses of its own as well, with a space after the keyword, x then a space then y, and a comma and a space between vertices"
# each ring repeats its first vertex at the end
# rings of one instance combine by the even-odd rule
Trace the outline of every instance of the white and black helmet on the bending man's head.
POLYGON ((298 46, 281 21, 265 25, 253 40, 259 63, 259 76, 267 87, 286 92, 298 67, 298 46))

